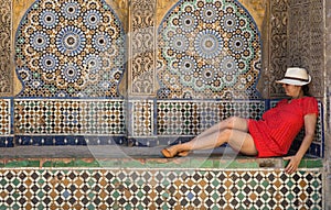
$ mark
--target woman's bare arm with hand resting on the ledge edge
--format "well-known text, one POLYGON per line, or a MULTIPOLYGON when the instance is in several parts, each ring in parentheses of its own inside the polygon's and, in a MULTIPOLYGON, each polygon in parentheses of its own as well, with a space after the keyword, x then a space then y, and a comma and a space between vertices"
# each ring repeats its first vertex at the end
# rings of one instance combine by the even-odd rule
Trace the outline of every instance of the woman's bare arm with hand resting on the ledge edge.
POLYGON ((310 113, 305 115, 305 137, 303 141, 295 156, 285 157, 284 159, 289 159, 289 164, 285 168, 285 172, 291 174, 298 169, 298 166, 306 154, 307 150, 309 148, 316 130, 317 123, 317 114, 310 113))

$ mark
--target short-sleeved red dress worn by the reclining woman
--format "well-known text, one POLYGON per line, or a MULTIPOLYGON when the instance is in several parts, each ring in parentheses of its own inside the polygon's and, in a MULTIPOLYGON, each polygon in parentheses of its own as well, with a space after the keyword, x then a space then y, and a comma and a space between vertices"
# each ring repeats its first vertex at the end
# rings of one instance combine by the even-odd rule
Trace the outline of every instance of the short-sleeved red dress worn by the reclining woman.
POLYGON ((286 155, 309 113, 318 115, 318 101, 313 97, 292 99, 290 103, 284 99, 266 111, 261 120, 248 120, 258 157, 286 155))

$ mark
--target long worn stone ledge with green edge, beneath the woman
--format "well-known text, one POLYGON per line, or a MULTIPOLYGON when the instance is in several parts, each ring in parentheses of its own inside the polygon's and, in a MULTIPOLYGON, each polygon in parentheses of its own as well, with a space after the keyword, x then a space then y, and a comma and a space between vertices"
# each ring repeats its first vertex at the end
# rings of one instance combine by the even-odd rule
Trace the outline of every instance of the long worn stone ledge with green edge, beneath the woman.
MULTIPOLYGON (((224 147, 200 151, 188 157, 163 158, 161 147, 125 146, 18 146, 0 148, 0 168, 192 168, 192 169, 282 169, 281 157, 241 156, 224 147)), ((300 168, 321 169, 321 158, 302 159, 300 168)))

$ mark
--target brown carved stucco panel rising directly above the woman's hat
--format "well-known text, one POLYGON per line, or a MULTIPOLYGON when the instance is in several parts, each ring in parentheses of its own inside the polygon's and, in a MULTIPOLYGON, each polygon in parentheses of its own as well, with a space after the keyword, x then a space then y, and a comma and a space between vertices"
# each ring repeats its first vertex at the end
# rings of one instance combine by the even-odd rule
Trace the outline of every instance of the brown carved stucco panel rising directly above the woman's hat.
POLYGON ((311 93, 323 97, 323 2, 291 2, 288 24, 288 66, 301 66, 312 76, 311 93))

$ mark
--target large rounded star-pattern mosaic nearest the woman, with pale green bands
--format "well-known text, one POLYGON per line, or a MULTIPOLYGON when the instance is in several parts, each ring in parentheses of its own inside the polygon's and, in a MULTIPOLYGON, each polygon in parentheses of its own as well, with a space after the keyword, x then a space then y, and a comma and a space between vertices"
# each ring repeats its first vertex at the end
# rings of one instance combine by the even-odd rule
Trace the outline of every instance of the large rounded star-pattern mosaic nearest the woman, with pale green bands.
POLYGON ((238 1, 181 0, 158 35, 158 98, 259 98, 259 31, 238 1))

